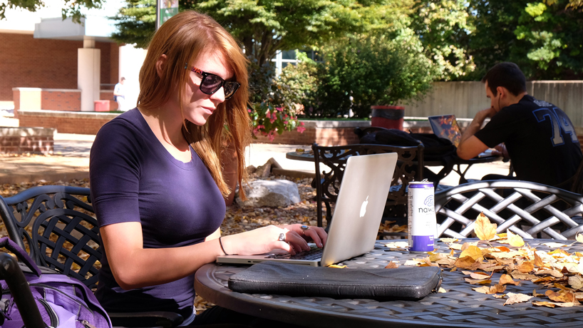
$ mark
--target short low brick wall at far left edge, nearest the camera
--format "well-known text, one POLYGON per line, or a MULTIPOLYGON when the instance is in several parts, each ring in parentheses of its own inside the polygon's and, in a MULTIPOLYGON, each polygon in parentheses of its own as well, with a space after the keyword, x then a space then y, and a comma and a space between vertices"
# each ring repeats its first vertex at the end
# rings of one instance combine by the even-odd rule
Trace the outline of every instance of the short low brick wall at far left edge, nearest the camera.
POLYGON ((0 128, 0 153, 53 153, 54 128, 0 128))

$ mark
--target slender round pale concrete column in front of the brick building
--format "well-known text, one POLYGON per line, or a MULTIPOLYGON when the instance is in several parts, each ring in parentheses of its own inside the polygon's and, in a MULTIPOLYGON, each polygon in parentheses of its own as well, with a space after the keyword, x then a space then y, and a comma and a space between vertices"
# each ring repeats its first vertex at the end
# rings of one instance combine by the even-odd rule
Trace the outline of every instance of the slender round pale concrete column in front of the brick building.
POLYGON ((81 89, 81 111, 94 111, 93 101, 99 100, 101 50, 95 40, 85 36, 83 47, 77 49, 77 88, 81 89))

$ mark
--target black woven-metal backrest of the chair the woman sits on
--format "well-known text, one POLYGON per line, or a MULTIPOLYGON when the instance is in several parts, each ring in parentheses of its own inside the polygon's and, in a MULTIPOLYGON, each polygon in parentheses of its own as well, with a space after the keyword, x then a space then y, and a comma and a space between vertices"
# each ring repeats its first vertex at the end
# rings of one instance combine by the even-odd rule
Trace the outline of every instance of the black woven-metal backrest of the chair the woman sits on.
POLYGON ((88 188, 43 185, 0 196, 0 216, 36 265, 96 287, 102 250, 88 188))

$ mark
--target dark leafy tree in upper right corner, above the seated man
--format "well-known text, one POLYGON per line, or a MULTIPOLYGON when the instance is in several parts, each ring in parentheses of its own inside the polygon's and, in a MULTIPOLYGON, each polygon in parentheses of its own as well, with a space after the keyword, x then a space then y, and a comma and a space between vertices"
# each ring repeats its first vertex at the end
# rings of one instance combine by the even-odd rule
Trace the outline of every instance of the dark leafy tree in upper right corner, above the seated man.
MULTIPOLYGON (((579 1, 580 2, 580 1, 579 1)), ((468 49, 479 79, 501 61, 527 78, 583 77, 583 11, 577 0, 471 0, 475 32, 468 49)))

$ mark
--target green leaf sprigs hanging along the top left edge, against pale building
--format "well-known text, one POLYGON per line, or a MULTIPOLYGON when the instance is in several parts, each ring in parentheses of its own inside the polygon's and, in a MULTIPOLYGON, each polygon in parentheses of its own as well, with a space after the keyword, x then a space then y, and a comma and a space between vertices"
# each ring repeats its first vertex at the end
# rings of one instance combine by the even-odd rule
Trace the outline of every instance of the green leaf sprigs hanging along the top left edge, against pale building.
MULTIPOLYGON (((63 19, 71 17, 74 22, 81 23, 81 18, 85 17, 81 9, 100 9, 103 0, 65 0, 61 13, 63 19)), ((6 0, 0 3, 0 19, 6 19, 6 9, 26 9, 28 11, 37 11, 45 6, 42 0, 6 0)))

